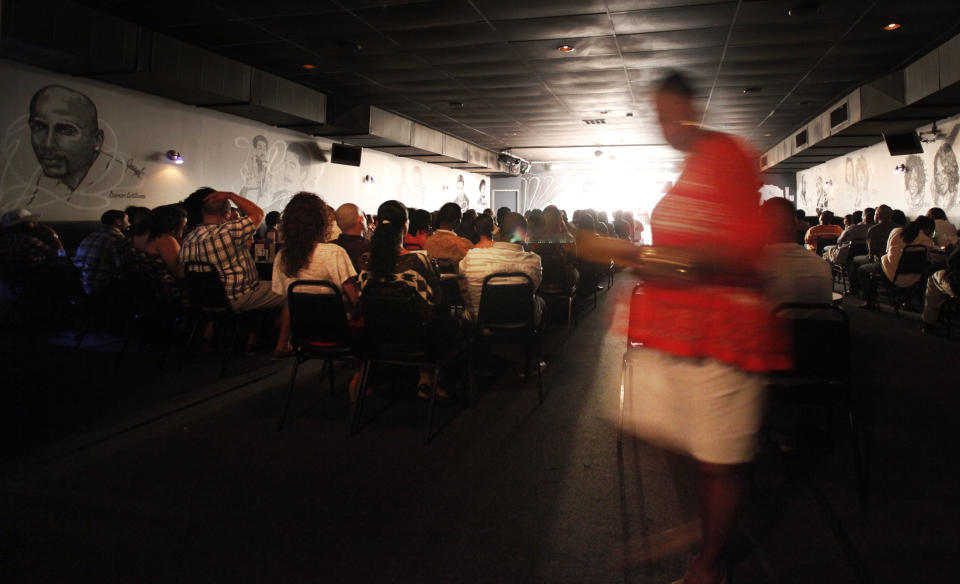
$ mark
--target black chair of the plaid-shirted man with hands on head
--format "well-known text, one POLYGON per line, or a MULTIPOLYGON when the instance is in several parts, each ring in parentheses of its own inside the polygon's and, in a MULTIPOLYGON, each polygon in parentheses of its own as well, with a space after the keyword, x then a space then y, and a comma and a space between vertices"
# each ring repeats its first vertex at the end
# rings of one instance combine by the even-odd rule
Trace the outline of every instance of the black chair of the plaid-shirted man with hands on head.
MULTIPOLYGON (((223 354, 223 362, 220 365, 220 377, 223 377, 227 372, 227 365, 236 347, 240 330, 243 328, 244 318, 248 314, 259 311, 235 312, 233 310, 230 301, 227 299, 220 273, 213 264, 209 262, 187 262, 183 268, 187 296, 194 312, 194 323, 190 336, 187 338, 187 348, 189 349, 193 344, 193 338, 196 336, 197 330, 205 321, 213 322, 214 325, 226 324, 231 329, 230 342, 227 343, 223 354)), ((260 285, 266 286, 267 284, 260 285)))

